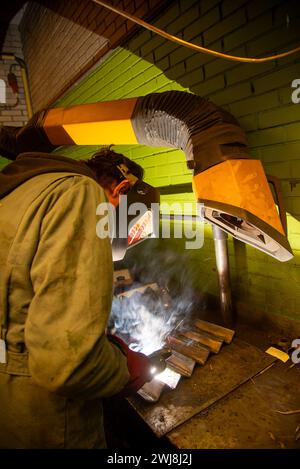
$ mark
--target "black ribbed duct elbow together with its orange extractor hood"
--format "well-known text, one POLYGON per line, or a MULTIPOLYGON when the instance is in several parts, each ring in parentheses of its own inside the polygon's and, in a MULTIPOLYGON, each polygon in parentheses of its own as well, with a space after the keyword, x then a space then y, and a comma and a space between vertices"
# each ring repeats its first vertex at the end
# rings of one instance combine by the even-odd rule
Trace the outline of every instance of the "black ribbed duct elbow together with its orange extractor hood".
POLYGON ((174 91, 139 98, 132 123, 139 143, 184 151, 205 220, 280 261, 293 257, 263 166, 230 113, 174 91))

